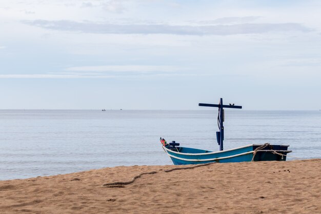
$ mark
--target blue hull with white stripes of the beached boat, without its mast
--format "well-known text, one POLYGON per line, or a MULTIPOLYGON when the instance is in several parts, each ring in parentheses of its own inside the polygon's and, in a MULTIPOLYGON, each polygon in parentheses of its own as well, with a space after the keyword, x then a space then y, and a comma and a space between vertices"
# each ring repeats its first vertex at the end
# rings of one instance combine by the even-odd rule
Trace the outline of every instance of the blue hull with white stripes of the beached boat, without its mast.
POLYGON ((163 148, 174 165, 250 162, 253 155, 253 161, 286 161, 286 154, 291 152, 287 145, 269 145, 257 150, 260 146, 262 145, 253 144, 217 152, 187 147, 171 148, 163 146, 163 148))

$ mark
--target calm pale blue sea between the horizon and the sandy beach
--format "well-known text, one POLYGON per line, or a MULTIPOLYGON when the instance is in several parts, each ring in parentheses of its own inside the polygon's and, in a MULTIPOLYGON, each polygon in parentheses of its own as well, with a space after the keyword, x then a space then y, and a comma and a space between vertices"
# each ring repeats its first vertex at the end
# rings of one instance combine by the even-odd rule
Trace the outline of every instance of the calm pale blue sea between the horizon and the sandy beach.
MULTIPOLYGON (((216 118, 216 109, 0 110, 0 180, 172 164, 159 137, 217 151, 216 118)), ((290 155, 321 158, 321 111, 227 109, 224 125, 225 149, 288 144, 290 155)))

